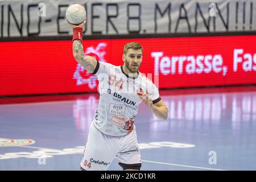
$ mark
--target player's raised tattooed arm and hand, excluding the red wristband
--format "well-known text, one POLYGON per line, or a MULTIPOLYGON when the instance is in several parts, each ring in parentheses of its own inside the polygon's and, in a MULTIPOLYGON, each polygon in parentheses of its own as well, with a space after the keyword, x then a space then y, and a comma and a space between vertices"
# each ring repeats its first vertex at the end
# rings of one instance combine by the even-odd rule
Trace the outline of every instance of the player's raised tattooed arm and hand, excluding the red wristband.
MULTIPOLYGON (((69 23, 73 28, 80 27, 83 28, 86 19, 79 25, 69 23)), ((82 65, 88 72, 93 73, 96 65, 97 60, 92 56, 84 55, 84 48, 82 47, 82 42, 80 40, 73 41, 73 56, 75 57, 76 61, 82 65)))

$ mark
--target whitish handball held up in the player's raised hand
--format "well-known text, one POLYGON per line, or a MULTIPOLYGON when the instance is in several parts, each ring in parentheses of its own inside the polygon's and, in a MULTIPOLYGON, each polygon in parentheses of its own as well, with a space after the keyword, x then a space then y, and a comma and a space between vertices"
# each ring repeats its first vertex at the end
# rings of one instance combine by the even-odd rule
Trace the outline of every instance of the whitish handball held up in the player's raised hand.
POLYGON ((73 4, 68 6, 66 11, 66 18, 71 24, 80 24, 86 18, 86 12, 84 7, 79 4, 73 4))

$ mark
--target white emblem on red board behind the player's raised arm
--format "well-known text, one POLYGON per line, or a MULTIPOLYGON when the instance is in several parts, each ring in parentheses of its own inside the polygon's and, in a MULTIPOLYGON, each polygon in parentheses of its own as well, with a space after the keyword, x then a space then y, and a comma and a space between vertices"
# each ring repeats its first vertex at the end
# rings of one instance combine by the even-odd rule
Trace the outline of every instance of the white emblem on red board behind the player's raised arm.
MULTIPOLYGON (((86 48, 85 55, 95 57, 97 61, 105 62, 106 55, 106 43, 99 43, 96 48, 93 46, 86 48)), ((94 89, 97 86, 97 76, 90 74, 84 67, 77 64, 76 71, 73 75, 73 79, 76 79, 76 85, 88 84, 90 89, 94 89)))

